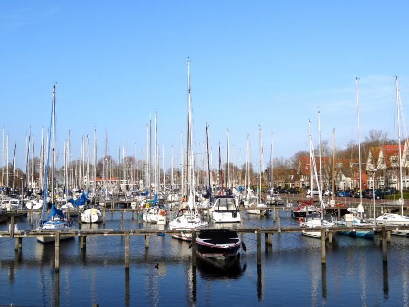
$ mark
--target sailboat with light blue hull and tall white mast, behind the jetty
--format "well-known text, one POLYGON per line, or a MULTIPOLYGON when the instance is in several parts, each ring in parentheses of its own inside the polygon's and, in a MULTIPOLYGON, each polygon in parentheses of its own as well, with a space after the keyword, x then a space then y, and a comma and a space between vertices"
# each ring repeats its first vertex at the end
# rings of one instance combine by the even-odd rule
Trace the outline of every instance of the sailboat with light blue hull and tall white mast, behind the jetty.
MULTIPOLYGON (((358 99, 358 78, 355 78, 355 84, 356 84, 356 108, 357 108, 357 114, 358 114, 358 161, 359 161, 359 189, 362 189, 362 167, 361 167, 361 143, 360 143, 360 129, 359 129, 359 99, 358 99)), ((334 183, 332 182, 332 187, 334 186, 334 183)), ((333 188, 332 188, 333 189, 333 188)), ((334 195, 334 193, 332 193, 334 195)), ((333 197, 333 196, 332 196, 333 197)), ((359 193, 359 205, 356 208, 348 208, 347 209, 349 212, 352 214, 345 214, 344 218, 340 221, 336 222, 337 226, 346 226, 346 227, 351 227, 351 226, 358 226, 358 227, 363 227, 363 226, 373 226, 373 224, 368 223, 363 219, 363 205, 362 205, 362 193, 359 193)), ((345 231, 339 231, 338 233, 341 234, 348 234, 351 236, 359 236, 359 237, 367 237, 367 238, 373 238, 374 237, 374 231, 373 230, 345 230, 345 231)))

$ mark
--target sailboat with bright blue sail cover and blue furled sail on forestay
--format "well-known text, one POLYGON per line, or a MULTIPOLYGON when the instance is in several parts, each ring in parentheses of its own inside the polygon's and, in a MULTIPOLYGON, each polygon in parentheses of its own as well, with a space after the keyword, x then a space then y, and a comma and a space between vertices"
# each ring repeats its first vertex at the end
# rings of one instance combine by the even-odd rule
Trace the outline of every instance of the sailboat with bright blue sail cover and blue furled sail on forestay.
MULTIPOLYGON (((52 148, 52 189, 51 189, 51 212, 47 220, 38 220, 37 221, 37 231, 44 232, 53 232, 53 231, 67 231, 74 229, 74 222, 72 218, 67 218, 62 210, 57 209, 54 206, 54 135, 55 135, 55 85, 53 87, 53 106, 52 106, 52 118, 50 123, 50 131, 52 129, 53 135, 53 148, 52 148)), ((44 204, 47 201, 47 184, 48 184, 48 171, 49 171, 49 162, 50 162, 50 147, 51 147, 51 134, 49 134, 48 141, 48 153, 47 153, 47 166, 46 166, 46 176, 44 178, 44 204)), ((46 215, 46 206, 42 206, 42 217, 46 215)), ((62 238, 67 239, 73 236, 63 236, 62 238)), ((55 236, 38 236, 37 240, 41 243, 54 242, 55 236)))

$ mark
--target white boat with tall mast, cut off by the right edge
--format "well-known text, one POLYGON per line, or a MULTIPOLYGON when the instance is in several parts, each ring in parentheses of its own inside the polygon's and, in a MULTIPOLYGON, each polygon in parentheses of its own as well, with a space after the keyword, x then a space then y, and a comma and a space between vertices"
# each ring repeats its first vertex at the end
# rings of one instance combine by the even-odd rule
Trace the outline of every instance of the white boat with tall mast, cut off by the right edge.
MULTIPOLYGON (((401 104, 400 104, 400 97, 399 97, 399 90, 398 90, 398 77, 395 77, 395 91, 396 91, 396 110, 397 110, 397 118, 398 118, 398 151, 399 151, 399 177, 400 177, 400 199, 398 203, 401 206, 401 214, 397 213, 383 213, 382 215, 378 216, 375 220, 375 225, 396 225, 396 226, 409 226, 409 216, 405 216, 403 214, 403 205, 405 201, 403 200, 403 180, 402 180, 402 150, 401 150, 401 136, 400 136, 400 111, 401 111, 401 104)), ((375 211, 374 211, 375 212, 375 211)), ((409 230, 399 229, 396 227, 395 230, 391 231, 392 234, 395 235, 409 235, 409 230)))

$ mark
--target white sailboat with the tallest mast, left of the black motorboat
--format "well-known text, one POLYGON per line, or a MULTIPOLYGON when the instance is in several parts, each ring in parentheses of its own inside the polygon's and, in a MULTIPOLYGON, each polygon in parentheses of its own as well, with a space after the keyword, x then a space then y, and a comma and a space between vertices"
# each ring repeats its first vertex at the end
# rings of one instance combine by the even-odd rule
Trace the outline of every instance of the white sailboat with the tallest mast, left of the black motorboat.
POLYGON ((203 228, 209 226, 209 223, 202 221, 196 206, 196 200, 194 193, 195 189, 195 177, 194 177, 194 163, 192 152, 192 121, 191 121, 191 95, 190 95, 190 73, 189 73, 189 60, 188 65, 188 118, 187 118, 187 155, 186 155, 186 189, 185 200, 180 205, 179 211, 173 221, 169 222, 170 230, 180 230, 178 233, 172 234, 172 237, 181 240, 192 240, 192 234, 187 233, 192 229, 203 228), (190 163, 190 164, 189 164, 190 163))

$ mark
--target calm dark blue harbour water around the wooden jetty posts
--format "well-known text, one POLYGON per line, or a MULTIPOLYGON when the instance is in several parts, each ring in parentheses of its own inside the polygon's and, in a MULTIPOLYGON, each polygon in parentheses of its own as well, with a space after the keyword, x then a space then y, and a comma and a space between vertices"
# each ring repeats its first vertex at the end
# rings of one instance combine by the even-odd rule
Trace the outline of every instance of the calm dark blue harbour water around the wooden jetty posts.
MULTIPOLYGON (((105 228, 120 227, 120 213, 107 213, 105 228)), ((281 225, 296 225, 281 212, 281 225)), ((19 229, 30 229, 26 218, 19 229)), ((270 226, 271 217, 245 216, 244 226, 270 226)), ((0 229, 7 229, 1 224, 0 229)), ((92 225, 103 228, 103 225, 92 225)), ((153 227, 141 224, 141 227, 153 227)), ((139 228, 124 214, 124 228, 139 228)), ((82 226, 85 229, 85 226, 82 226)), ((407 306, 409 300, 409 238, 392 236, 388 265, 382 264, 379 240, 336 235, 327 242, 327 265, 321 265, 321 242, 301 234, 273 236, 262 244, 257 268, 256 236, 244 234, 247 252, 226 271, 198 262, 191 268, 187 242, 170 235, 130 237, 130 269, 124 269, 123 237, 88 237, 81 252, 79 239, 60 244, 60 272, 54 273, 54 245, 24 238, 22 254, 14 239, 0 238, 0 305, 71 306, 214 306, 311 305, 407 306), (158 264, 157 269, 155 268, 158 264)))

